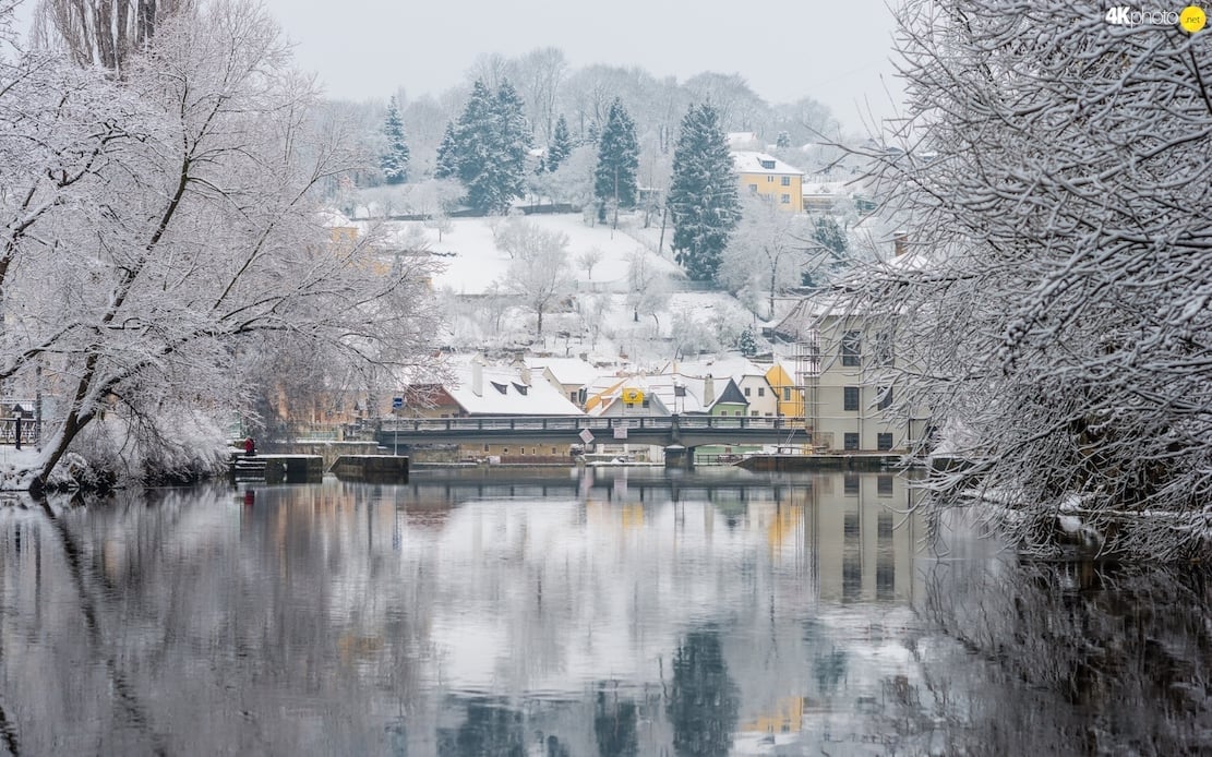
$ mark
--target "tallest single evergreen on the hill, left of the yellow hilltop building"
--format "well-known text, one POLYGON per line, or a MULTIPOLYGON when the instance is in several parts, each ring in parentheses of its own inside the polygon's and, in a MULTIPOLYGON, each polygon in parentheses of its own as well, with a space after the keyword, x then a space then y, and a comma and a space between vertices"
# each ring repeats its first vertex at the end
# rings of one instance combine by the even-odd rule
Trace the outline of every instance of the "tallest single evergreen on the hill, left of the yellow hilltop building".
POLYGON ((668 207, 675 259, 691 279, 714 281, 741 219, 741 200, 727 138, 709 104, 691 105, 682 119, 668 207))

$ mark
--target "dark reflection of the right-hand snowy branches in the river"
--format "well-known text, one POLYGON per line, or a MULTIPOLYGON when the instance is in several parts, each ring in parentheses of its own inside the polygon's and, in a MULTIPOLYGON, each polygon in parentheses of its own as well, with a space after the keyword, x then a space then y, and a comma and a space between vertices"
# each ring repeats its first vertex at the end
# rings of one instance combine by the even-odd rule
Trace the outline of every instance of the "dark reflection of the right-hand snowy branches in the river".
MULTIPOLYGON (((941 566, 927 612, 964 652, 954 665, 926 667, 933 706, 919 709, 916 727, 942 716, 948 751, 959 753, 1047 753, 1057 745, 1087 753, 1200 751, 1210 600, 1199 572, 1028 563, 995 574, 941 566)), ((905 693, 905 704, 927 699, 905 693)))

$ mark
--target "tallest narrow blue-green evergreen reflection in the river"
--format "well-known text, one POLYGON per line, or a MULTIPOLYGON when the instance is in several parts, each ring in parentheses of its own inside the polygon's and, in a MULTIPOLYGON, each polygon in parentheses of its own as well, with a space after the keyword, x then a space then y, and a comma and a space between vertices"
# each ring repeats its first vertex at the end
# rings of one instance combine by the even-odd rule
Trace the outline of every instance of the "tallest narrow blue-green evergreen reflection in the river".
POLYGON ((739 690, 728 677, 720 632, 692 631, 674 655, 665 712, 679 755, 727 755, 739 712, 739 690))

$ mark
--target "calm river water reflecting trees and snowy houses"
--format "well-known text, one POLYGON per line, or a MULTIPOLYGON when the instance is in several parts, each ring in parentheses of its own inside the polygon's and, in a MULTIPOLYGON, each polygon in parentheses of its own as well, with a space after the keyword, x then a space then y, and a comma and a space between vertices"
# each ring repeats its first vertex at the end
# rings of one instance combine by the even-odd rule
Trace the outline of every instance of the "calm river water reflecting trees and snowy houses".
POLYGON ((1212 749, 1197 570, 1021 563, 904 480, 415 471, 0 509, 0 753, 1212 749))

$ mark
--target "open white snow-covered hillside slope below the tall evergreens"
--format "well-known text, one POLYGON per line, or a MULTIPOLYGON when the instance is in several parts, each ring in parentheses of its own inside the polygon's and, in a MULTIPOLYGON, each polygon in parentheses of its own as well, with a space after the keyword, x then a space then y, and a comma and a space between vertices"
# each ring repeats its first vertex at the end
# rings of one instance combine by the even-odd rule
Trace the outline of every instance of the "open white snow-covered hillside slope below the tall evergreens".
POLYGON ((534 333, 536 317, 521 308, 493 315, 479 296, 503 285, 509 256, 498 250, 494 231, 514 219, 501 217, 451 219, 441 234, 422 222, 387 222, 381 231, 389 245, 413 248, 423 242, 444 266, 434 276, 434 287, 463 300, 450 306, 447 346, 458 350, 525 350, 532 355, 593 355, 601 362, 625 357, 640 363, 659 363, 682 357, 686 350, 727 350, 747 326, 761 326, 736 298, 725 292, 699 292, 674 262, 669 248, 673 229, 644 228, 642 214, 621 218, 619 228, 588 224, 579 213, 530 216, 521 220, 568 237, 568 269, 577 294, 571 306, 548 312, 543 334, 534 333), (585 254, 601 254, 590 269, 585 254), (636 317, 629 304, 631 263, 639 256, 659 292, 656 312, 641 309, 636 317), (591 296, 599 302, 589 308, 591 296))

